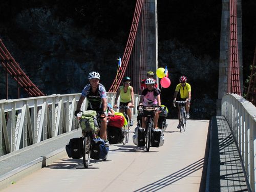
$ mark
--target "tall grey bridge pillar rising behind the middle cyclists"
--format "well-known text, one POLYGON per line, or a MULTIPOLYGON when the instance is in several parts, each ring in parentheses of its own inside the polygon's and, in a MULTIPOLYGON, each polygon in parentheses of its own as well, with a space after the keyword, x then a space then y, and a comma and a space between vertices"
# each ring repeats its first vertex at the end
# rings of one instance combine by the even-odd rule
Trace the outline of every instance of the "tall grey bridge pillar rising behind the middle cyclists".
POLYGON ((158 69, 157 0, 144 1, 133 50, 127 74, 136 82, 132 85, 134 93, 140 94, 146 72, 156 73, 158 69))

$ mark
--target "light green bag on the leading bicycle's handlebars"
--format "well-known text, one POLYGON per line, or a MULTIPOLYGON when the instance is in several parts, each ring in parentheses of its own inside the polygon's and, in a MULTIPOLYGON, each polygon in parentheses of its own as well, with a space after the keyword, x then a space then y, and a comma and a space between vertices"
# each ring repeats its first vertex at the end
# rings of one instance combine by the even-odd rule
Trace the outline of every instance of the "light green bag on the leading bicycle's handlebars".
POLYGON ((93 110, 84 111, 80 119, 82 131, 94 131, 96 133, 98 122, 96 118, 97 112, 93 110))

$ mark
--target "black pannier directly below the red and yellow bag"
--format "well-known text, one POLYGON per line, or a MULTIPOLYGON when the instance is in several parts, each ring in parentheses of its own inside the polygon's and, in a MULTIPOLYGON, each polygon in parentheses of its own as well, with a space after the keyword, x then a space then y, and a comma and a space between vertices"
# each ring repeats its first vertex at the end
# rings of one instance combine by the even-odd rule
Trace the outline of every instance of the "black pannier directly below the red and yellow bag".
POLYGON ((116 144, 122 142, 124 135, 122 133, 122 129, 115 126, 109 126, 106 129, 108 133, 108 140, 111 144, 116 144))

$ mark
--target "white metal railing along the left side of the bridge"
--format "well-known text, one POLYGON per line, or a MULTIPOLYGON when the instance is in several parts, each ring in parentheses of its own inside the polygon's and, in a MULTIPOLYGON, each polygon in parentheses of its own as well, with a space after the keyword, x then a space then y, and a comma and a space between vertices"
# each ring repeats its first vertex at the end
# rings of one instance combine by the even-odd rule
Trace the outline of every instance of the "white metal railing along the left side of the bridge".
MULTIPOLYGON (((116 93, 107 96, 113 105, 116 93)), ((0 100, 0 156, 76 129, 74 112, 79 97, 68 94, 0 100)), ((134 97, 137 106, 140 96, 134 97)), ((86 109, 85 100, 81 110, 86 109)))

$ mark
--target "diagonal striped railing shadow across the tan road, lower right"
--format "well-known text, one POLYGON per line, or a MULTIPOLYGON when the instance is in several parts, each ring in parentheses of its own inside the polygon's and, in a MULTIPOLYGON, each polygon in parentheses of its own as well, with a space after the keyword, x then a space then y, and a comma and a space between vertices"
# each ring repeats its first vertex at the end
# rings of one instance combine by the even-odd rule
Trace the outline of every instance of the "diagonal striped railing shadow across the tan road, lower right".
POLYGON ((173 174, 170 174, 170 175, 164 177, 163 179, 160 179, 154 183, 151 183, 142 188, 139 188, 139 189, 135 190, 134 192, 158 191, 170 184, 173 184, 173 183, 183 179, 184 177, 187 177, 187 176, 193 174, 197 170, 203 168, 203 166, 204 166, 204 158, 180 169, 178 172, 175 172, 173 174))

